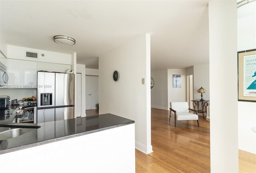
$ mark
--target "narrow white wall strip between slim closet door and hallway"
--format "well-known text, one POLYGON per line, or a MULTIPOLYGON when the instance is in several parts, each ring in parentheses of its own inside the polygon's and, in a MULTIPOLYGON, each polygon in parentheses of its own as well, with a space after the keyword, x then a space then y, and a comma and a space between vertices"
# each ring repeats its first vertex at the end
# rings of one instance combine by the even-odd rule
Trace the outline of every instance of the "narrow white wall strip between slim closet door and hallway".
POLYGON ((76 72, 77 73, 81 73, 82 76, 82 81, 81 81, 81 117, 86 116, 85 113, 85 104, 86 104, 86 100, 85 100, 85 65, 84 64, 76 64, 76 72))

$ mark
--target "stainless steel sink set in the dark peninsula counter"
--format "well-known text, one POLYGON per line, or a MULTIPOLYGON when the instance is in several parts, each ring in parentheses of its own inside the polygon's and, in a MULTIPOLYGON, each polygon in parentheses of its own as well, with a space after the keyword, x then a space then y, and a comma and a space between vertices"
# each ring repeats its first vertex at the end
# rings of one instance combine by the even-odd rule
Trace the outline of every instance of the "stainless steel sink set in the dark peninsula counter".
POLYGON ((10 127, 0 127, 0 140, 11 139, 19 135, 23 135, 35 129, 31 128, 10 128, 10 127))

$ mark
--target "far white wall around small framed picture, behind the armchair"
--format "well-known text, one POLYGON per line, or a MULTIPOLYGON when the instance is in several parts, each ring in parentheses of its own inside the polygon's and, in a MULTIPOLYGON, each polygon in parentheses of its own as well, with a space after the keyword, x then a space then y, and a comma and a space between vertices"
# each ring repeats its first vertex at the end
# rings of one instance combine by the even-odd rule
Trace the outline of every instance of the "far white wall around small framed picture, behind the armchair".
POLYGON ((170 102, 186 101, 187 92, 187 70, 186 69, 168 69, 168 109, 170 102), (181 74, 181 87, 174 88, 172 82, 173 74, 181 74))

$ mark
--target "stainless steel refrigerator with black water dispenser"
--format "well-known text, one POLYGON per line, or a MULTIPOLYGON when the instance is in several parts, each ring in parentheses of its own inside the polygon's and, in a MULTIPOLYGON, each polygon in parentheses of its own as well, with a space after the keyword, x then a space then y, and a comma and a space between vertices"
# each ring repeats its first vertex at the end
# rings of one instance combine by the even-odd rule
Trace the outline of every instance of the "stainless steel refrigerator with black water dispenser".
POLYGON ((37 123, 74 118, 74 74, 37 73, 37 123))

